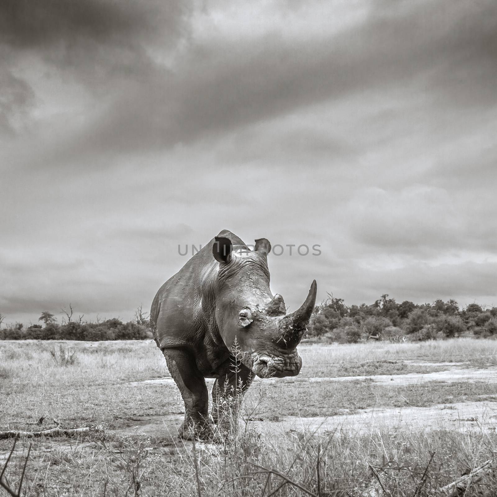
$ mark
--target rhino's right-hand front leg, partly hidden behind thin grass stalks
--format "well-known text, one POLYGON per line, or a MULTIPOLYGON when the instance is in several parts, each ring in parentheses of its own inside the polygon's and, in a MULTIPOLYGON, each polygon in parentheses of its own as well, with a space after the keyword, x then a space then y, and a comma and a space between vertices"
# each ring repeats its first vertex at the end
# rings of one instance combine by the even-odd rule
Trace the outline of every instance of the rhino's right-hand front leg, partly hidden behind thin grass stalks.
POLYGON ((214 382, 212 387, 212 418, 220 425, 229 425, 247 391, 254 374, 248 367, 241 364, 235 373, 231 368, 214 382))

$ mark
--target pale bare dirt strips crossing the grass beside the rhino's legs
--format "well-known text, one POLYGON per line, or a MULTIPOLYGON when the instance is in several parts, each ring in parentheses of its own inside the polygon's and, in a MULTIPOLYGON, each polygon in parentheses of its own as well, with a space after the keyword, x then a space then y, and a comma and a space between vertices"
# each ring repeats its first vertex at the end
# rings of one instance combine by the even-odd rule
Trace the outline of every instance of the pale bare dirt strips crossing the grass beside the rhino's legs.
MULTIPOLYGON (((497 367, 485 369, 469 368, 465 363, 455 362, 414 362, 413 364, 446 367, 442 371, 431 373, 409 373, 404 375, 374 375, 374 376, 346 376, 339 378, 270 378, 265 380, 255 379, 254 383, 263 381, 266 385, 276 383, 325 383, 365 381, 371 385, 414 385, 425 382, 491 382, 497 383, 497 367)), ((132 384, 138 384, 133 382, 132 384)), ((144 383, 171 384, 171 377, 154 378, 145 380, 144 383)), ((207 380, 208 387, 213 380, 207 380)), ((133 426, 122 427, 114 430, 118 435, 131 435, 143 433, 161 438, 177 437, 177 426, 183 420, 182 414, 166 414, 164 416, 134 417, 133 426)), ((280 416, 278 419, 256 417, 255 419, 241 420, 241 426, 248 422, 261 432, 331 432, 340 433, 367 433, 379 427, 390 427, 393 431, 398 429, 422 428, 449 429, 457 431, 491 430, 497 429, 497 402, 461 402, 454 404, 440 404, 430 407, 404 407, 404 408, 370 408, 359 413, 339 414, 333 416, 280 416)))

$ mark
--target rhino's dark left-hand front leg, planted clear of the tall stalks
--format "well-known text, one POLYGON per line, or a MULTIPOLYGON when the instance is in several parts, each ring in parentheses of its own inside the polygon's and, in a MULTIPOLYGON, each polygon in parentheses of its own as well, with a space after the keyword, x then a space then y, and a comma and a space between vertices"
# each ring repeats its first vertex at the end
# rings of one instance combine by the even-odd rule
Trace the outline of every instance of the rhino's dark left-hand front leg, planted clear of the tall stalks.
POLYGON ((209 438, 212 429, 209 426, 209 394, 205 378, 198 371, 191 354, 182 349, 166 348, 163 350, 169 373, 176 383, 185 403, 185 419, 179 429, 179 436, 191 440, 209 438))

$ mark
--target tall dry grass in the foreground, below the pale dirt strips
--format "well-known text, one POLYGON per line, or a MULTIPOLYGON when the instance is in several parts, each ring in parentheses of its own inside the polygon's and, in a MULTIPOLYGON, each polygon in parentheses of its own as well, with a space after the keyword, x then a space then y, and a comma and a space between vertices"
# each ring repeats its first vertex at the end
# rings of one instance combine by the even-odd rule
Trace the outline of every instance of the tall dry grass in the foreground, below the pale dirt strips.
MULTIPOLYGON (((380 427, 368 435, 293 432, 260 436, 248 429, 241 430, 231 444, 196 444, 194 452, 191 444, 158 444, 160 441, 139 433, 114 441, 73 441, 71 447, 65 442, 50 452, 40 443, 31 452, 24 488, 27 495, 38 490, 48 496, 96 497, 104 495, 104 488, 117 496, 126 492, 142 496, 268 496, 284 483, 279 473, 314 495, 344 497, 358 496, 371 480, 373 466, 392 495, 412 497, 432 453, 421 495, 492 457, 496 435, 449 429, 398 432, 380 427), (137 487, 139 493, 135 494, 137 487)), ((25 455, 25 442, 23 445, 25 455)), ((21 464, 19 457, 9 472, 12 485, 21 464)), ((491 491, 497 488, 492 475, 483 483, 491 491)), ((476 496, 477 490, 486 487, 470 489, 466 495, 476 496)), ((491 491, 487 495, 493 495, 491 491)), ((276 495, 306 494, 286 484, 276 495)))

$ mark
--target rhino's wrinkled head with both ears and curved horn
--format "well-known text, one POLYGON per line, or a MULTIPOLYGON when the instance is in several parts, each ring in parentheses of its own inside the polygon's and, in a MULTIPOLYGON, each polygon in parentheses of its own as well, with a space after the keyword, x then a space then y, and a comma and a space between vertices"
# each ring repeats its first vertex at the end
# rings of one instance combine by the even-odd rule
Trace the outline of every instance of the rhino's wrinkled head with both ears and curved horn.
POLYGON ((269 289, 265 239, 254 250, 233 249, 230 239, 216 237, 212 249, 217 265, 215 316, 226 346, 260 378, 295 376, 302 359, 297 352, 316 302, 317 284, 312 282, 302 306, 286 314, 283 297, 269 289))

